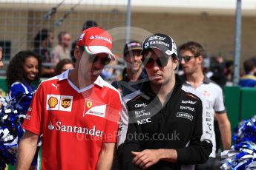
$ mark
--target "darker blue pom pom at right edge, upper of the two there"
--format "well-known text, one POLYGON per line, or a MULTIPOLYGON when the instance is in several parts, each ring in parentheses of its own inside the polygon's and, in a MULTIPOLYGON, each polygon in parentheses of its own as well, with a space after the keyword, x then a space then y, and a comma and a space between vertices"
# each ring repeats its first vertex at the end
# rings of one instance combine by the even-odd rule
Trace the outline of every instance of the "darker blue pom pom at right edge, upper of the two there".
POLYGON ((256 143, 256 115, 249 120, 243 120, 239 123, 237 128, 234 129, 232 137, 234 143, 243 141, 252 141, 256 143))

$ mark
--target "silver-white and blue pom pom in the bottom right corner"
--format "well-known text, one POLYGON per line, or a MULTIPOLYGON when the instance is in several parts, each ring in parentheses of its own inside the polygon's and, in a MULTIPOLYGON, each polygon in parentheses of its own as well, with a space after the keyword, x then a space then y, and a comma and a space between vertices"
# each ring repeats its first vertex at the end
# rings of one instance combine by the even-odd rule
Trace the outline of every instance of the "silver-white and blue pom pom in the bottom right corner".
POLYGON ((220 169, 249 170, 256 169, 256 144, 252 142, 241 142, 232 146, 231 150, 221 153, 223 165, 220 169))

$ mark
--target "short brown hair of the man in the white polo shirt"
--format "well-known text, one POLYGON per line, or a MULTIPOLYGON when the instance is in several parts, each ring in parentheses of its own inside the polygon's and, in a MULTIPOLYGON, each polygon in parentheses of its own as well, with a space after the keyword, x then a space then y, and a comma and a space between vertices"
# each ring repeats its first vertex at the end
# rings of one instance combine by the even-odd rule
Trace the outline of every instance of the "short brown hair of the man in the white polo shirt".
POLYGON ((205 55, 205 51, 203 50, 203 47, 201 46, 201 44, 194 41, 188 41, 187 43, 182 44, 179 48, 179 52, 181 50, 189 50, 193 53, 195 57, 198 57, 200 55, 202 56, 205 55))

